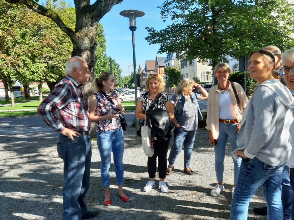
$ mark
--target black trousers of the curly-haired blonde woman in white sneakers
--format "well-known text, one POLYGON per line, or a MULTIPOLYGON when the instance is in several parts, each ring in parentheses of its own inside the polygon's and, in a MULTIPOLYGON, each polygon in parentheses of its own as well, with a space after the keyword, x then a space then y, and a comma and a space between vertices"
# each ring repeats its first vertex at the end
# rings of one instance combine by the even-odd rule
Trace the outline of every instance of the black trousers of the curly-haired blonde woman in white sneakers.
POLYGON ((168 138, 166 140, 158 139, 154 141, 154 144, 153 144, 154 154, 152 157, 148 157, 148 162, 147 162, 149 178, 155 177, 156 159, 158 157, 159 178, 165 179, 166 167, 167 167, 166 158, 167 158, 167 151, 168 151, 168 146, 170 141, 171 141, 171 138, 168 138))

